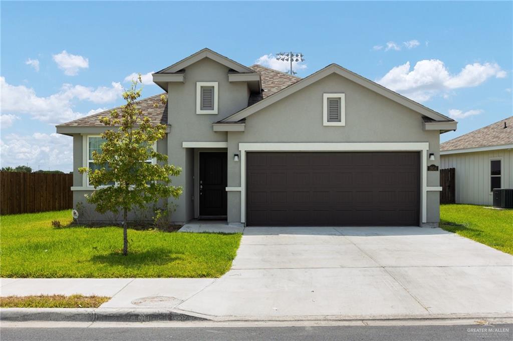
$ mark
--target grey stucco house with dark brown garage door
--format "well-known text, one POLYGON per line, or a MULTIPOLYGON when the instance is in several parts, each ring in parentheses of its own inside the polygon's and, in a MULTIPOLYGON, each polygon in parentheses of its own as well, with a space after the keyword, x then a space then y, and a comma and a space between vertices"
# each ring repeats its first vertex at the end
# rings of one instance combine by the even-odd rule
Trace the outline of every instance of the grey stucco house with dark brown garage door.
MULTIPOLYGON (((433 226, 439 222, 440 134, 457 123, 331 64, 306 78, 246 67, 203 49, 153 74, 168 125, 156 145, 182 174, 171 221, 226 218, 248 226, 433 226), (428 165, 435 170, 428 171, 428 165)), ((92 116, 57 126, 73 136, 73 199, 92 188, 105 127, 92 116)), ((149 162, 149 161, 148 161, 149 162)), ((79 204, 87 207, 87 204, 79 204)), ((107 217, 89 212, 90 219, 107 217)))

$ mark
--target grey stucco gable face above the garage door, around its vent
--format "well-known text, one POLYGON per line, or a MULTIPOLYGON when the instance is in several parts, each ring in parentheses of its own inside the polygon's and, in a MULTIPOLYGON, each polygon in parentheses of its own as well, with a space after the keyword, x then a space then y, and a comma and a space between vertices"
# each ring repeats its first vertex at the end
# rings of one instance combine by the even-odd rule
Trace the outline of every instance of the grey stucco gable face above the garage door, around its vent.
POLYGON ((247 141, 398 142, 436 141, 439 131, 425 131, 422 115, 339 74, 320 79, 258 114, 245 118, 247 141), (345 94, 343 126, 323 123, 324 94, 345 94))

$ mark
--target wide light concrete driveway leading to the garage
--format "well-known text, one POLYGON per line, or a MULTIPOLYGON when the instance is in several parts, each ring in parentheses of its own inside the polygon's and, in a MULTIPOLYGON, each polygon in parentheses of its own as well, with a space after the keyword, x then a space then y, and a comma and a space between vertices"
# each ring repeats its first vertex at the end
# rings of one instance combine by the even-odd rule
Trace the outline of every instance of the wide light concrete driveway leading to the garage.
POLYGON ((246 228, 232 269, 176 306, 237 318, 497 317, 513 257, 441 229, 246 228))

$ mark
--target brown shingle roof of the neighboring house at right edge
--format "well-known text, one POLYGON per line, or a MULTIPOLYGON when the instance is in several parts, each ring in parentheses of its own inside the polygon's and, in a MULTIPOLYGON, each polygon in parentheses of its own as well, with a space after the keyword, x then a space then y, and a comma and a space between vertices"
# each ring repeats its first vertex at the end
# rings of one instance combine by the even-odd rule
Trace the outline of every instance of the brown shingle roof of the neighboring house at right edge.
POLYGON ((444 142, 440 145, 440 151, 502 145, 513 145, 513 116, 444 142))

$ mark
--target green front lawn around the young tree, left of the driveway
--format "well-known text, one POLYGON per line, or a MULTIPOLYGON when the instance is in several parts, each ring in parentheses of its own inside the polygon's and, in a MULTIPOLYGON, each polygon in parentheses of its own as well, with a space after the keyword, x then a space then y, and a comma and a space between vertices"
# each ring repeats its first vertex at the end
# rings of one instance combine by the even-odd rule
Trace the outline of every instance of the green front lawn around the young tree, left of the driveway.
POLYGON ((219 277, 231 267, 241 234, 68 226, 71 212, 0 218, 2 277, 219 277), (52 220, 64 227, 53 228, 52 220))

